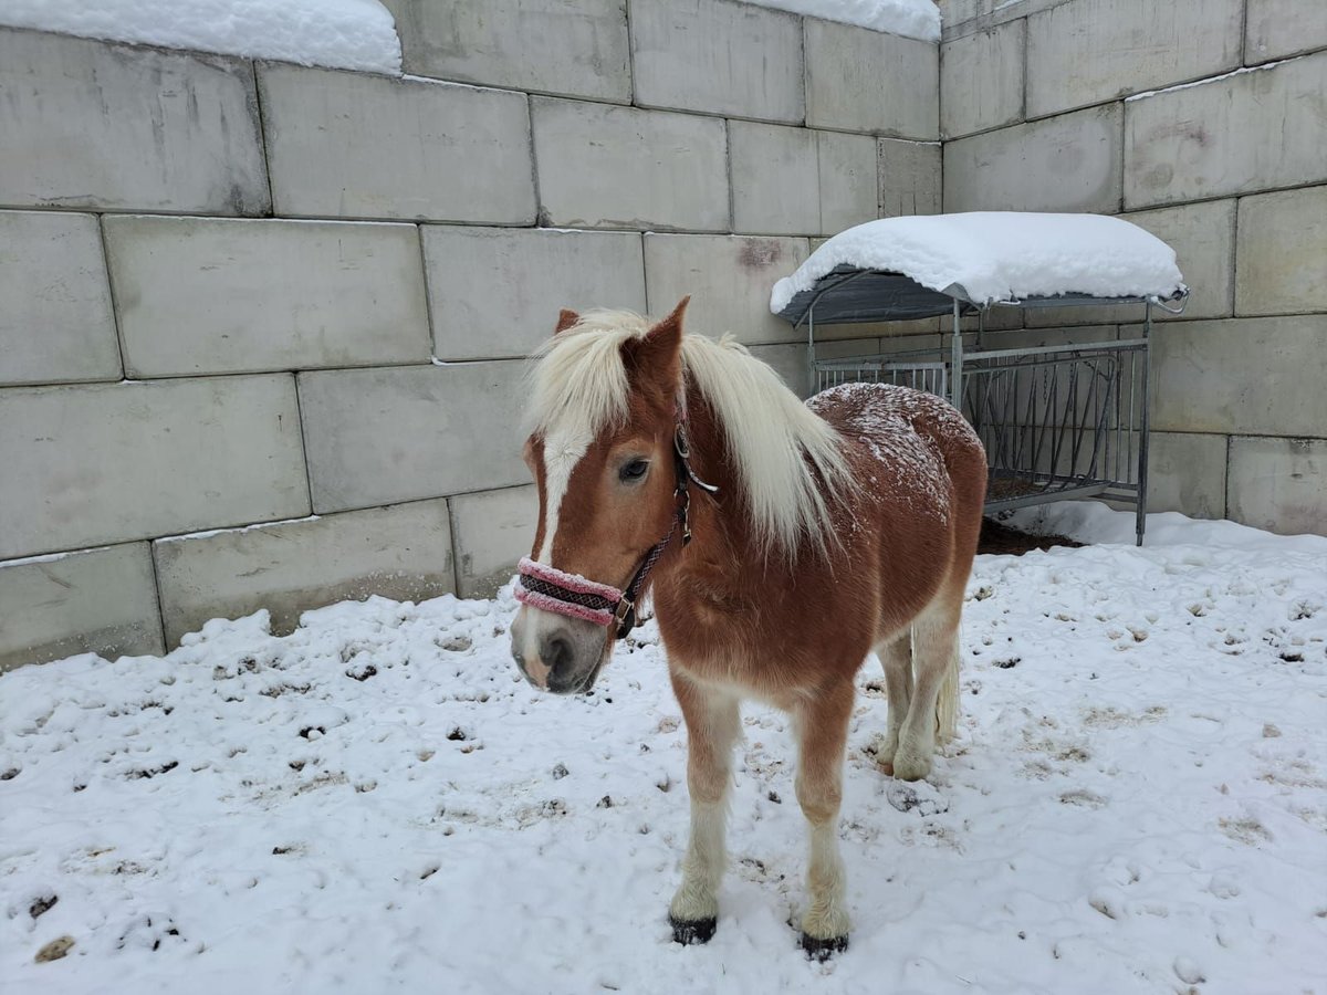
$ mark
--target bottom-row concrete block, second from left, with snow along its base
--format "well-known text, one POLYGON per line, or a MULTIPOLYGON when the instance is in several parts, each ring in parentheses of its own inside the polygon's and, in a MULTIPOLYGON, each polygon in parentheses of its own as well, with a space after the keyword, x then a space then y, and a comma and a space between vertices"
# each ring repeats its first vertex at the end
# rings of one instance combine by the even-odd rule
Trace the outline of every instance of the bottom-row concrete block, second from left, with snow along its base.
POLYGON ((300 614, 370 594, 422 601, 455 592, 447 501, 414 501, 153 543, 166 641, 210 618, 261 608, 272 631, 300 614))

